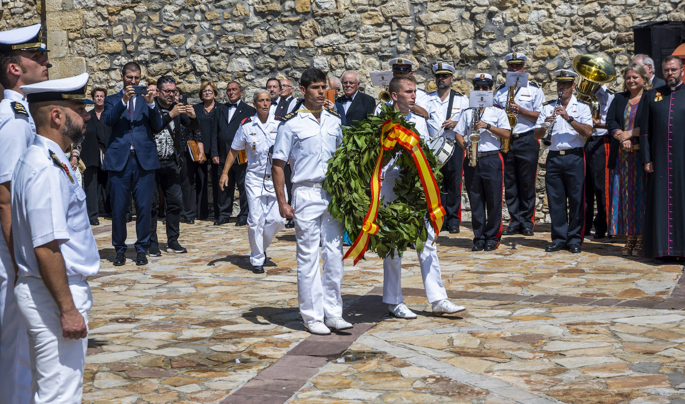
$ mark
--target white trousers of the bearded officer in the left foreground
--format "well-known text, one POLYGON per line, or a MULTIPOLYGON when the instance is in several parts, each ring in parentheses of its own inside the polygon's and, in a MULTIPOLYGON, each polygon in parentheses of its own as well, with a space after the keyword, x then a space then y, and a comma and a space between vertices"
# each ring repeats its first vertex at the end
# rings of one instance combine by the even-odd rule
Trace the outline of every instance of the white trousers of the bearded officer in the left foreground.
MULTIPOLYGON (((69 281, 77 310, 88 324, 92 296, 88 283, 69 281)), ((62 337, 60 310, 42 279, 21 277, 14 287, 19 312, 29 331, 31 403, 79 404, 83 390, 88 338, 62 337)))

